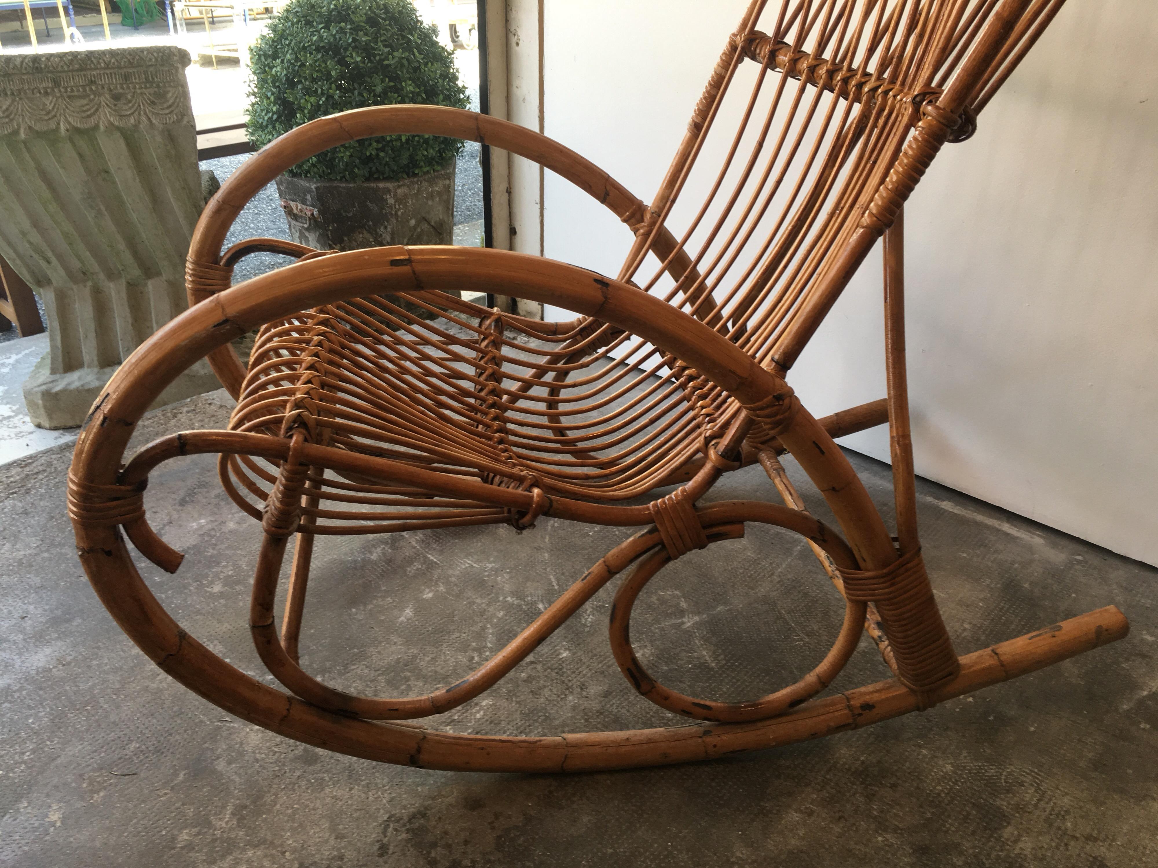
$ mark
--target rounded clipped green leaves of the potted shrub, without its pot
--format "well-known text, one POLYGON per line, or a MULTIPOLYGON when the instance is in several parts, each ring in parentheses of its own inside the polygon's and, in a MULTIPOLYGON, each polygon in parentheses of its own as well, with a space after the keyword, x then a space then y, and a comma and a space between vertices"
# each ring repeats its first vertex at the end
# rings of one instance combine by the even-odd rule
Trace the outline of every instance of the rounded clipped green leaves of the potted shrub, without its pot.
MULTIPOLYGON (((369 105, 464 109, 454 58, 410 0, 293 0, 250 51, 249 140, 267 145, 296 126, 369 105)), ((381 135, 298 163, 300 178, 393 181, 437 171, 462 142, 381 135)))

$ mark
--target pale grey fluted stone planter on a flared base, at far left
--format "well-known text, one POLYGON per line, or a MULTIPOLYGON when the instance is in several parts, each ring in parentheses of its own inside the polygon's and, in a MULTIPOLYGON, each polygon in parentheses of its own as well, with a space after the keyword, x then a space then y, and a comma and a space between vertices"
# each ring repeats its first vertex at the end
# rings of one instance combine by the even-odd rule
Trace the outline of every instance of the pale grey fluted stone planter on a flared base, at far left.
MULTIPOLYGON (((174 46, 0 56, 0 256, 44 299, 32 422, 80 425, 117 366, 185 308, 204 206, 174 46)), ((204 362, 159 404, 219 388, 204 362)))

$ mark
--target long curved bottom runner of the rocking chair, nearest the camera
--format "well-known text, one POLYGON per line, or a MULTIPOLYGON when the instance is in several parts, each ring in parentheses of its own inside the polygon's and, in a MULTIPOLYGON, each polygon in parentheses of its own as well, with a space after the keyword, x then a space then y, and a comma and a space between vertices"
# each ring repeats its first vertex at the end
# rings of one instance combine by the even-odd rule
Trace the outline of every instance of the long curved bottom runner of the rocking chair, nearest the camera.
MULTIPOLYGON (((755 723, 696 723, 622 733, 501 737, 378 723, 312 706, 251 678, 210 652, 161 608, 137 573, 119 536, 111 547, 81 549, 101 601, 162 670, 218 705, 280 735, 350 756, 423 768, 479 772, 591 772, 670 765, 761 750, 858 729, 917 711, 897 679, 811 700, 755 723)), ((935 701, 1043 669, 1117 641, 1129 625, 1107 606, 960 659, 958 676, 935 701)))

